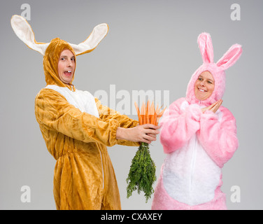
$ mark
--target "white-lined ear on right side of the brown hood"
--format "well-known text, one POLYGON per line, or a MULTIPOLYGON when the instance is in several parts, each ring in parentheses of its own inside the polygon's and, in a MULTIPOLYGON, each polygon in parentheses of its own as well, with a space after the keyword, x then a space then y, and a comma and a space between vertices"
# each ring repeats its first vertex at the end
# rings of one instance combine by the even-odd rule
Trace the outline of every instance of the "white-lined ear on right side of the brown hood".
POLYGON ((92 33, 85 41, 78 45, 73 43, 70 43, 70 45, 75 51, 76 55, 83 55, 87 52, 91 52, 92 50, 94 50, 107 34, 108 25, 106 23, 102 23, 94 27, 92 33))

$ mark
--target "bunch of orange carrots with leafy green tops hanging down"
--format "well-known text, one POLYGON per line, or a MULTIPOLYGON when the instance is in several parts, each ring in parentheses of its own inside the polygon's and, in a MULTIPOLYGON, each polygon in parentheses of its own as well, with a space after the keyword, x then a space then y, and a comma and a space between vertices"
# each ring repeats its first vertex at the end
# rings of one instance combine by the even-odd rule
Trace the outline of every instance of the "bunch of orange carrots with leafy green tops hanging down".
MULTIPOLYGON (((148 101, 147 104, 143 102, 141 106, 141 111, 138 109, 136 102, 134 103, 136 111, 138 113, 138 123, 139 125, 152 124, 158 125, 159 118, 162 117, 165 109, 162 109, 162 106, 155 109, 155 105, 152 102, 148 101)), ((149 145, 142 142, 131 161, 131 167, 129 169, 129 175, 127 177, 127 198, 132 195, 134 190, 137 190, 138 193, 141 191, 144 192, 146 202, 150 199, 154 190, 152 188, 153 183, 156 181, 156 166, 152 158, 150 158, 149 145)))

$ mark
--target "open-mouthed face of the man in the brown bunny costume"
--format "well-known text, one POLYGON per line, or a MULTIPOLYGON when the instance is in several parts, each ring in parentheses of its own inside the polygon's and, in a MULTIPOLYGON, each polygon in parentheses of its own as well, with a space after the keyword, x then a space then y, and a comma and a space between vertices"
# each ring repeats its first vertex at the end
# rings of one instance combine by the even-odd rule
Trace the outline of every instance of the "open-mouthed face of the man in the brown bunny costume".
POLYGON ((62 50, 59 56, 59 63, 57 65, 59 78, 63 83, 69 84, 73 78, 75 71, 75 56, 69 49, 62 50))

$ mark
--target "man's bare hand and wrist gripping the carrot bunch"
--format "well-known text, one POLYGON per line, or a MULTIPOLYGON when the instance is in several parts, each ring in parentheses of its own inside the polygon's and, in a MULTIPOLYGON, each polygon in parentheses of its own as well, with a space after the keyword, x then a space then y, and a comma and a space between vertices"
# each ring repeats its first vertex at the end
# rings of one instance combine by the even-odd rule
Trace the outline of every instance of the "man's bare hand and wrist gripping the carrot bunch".
POLYGON ((116 139, 124 139, 128 141, 145 142, 150 144, 156 141, 156 136, 159 134, 159 126, 145 124, 131 128, 118 127, 116 139))

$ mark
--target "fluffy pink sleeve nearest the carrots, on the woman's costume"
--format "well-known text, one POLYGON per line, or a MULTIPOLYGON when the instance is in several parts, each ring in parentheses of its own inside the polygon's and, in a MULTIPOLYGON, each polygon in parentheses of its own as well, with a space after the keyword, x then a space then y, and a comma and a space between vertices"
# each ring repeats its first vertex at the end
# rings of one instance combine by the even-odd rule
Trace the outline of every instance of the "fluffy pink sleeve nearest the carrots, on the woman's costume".
POLYGON ((184 98, 178 99, 164 112, 160 132, 164 153, 182 148, 200 128, 201 109, 197 105, 190 105, 182 111, 180 106, 184 101, 184 98))

